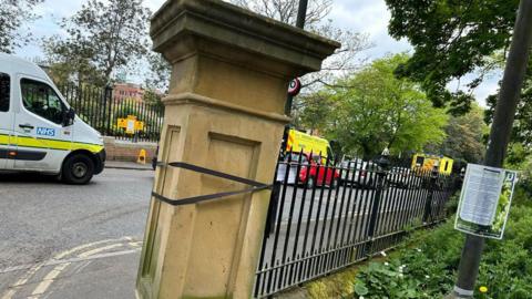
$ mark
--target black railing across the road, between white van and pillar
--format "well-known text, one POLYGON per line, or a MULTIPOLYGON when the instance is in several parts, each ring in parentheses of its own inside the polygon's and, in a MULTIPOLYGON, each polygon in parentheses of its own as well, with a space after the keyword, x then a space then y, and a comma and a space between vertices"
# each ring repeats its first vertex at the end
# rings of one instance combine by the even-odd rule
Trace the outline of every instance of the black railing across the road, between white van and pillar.
POLYGON ((137 100, 119 100, 113 96, 112 87, 88 84, 61 84, 58 89, 69 104, 89 125, 105 136, 120 140, 157 142, 164 118, 164 107, 137 100), (136 116, 143 123, 142 130, 130 134, 119 126, 119 118, 136 116))

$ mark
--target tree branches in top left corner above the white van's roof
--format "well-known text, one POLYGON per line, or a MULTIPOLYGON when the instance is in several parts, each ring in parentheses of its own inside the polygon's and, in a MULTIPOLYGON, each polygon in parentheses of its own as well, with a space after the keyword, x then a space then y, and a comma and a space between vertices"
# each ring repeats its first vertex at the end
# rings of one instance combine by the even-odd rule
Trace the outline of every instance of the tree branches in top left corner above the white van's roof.
POLYGON ((11 53, 30 41, 31 34, 22 33, 20 29, 23 23, 37 18, 32 11, 42 1, 0 0, 0 52, 11 53))

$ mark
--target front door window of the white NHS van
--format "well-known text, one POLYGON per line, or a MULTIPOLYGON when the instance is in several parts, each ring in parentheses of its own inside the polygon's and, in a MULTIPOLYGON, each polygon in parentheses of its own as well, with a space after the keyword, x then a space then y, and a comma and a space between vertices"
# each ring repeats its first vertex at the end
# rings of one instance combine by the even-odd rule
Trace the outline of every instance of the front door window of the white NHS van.
POLYGON ((20 86, 22 103, 28 111, 57 124, 62 123, 65 107, 52 87, 29 79, 22 79, 20 86))

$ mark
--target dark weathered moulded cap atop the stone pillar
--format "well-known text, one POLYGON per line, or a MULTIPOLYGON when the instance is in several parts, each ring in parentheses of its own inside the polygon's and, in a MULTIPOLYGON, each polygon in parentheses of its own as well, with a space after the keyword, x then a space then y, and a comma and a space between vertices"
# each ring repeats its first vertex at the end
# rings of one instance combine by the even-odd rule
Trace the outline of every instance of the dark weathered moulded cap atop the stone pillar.
MULTIPOLYGON (((336 41, 221 0, 166 1, 152 18, 150 35, 154 50, 163 54, 175 48, 176 41, 193 37, 250 53, 242 58, 243 63, 255 58, 290 65, 294 75, 318 71, 321 61, 340 47, 336 41)), ((192 49, 182 45, 178 54, 173 51, 172 58, 165 56, 178 59, 192 49)), ((231 58, 235 59, 238 55, 231 58)))

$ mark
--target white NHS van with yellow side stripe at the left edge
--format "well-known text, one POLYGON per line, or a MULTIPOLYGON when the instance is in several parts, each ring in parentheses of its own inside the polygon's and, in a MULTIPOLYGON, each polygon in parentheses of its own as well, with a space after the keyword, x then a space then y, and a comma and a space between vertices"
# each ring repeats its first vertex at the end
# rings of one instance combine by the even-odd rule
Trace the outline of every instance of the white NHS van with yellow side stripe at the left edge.
POLYGON ((38 65, 0 53, 0 171, 86 184, 103 171, 103 138, 38 65))

